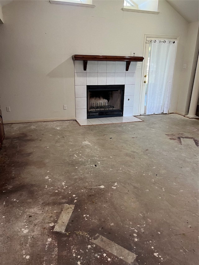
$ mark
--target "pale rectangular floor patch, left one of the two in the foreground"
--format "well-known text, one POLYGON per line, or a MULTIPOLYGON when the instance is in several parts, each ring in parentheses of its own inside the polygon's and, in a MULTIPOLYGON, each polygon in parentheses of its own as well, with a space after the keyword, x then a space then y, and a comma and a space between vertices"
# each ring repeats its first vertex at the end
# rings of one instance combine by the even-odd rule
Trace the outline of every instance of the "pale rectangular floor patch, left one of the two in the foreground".
POLYGON ((72 204, 64 204, 63 210, 60 214, 57 224, 55 225, 54 231, 64 233, 74 207, 75 205, 72 204))

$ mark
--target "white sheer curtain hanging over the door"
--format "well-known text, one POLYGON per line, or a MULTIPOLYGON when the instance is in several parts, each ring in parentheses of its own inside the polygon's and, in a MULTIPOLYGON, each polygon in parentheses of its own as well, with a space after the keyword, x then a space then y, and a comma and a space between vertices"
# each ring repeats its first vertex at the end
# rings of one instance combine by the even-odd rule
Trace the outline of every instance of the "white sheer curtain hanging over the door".
POLYGON ((177 41, 165 41, 151 43, 146 114, 169 112, 177 41))

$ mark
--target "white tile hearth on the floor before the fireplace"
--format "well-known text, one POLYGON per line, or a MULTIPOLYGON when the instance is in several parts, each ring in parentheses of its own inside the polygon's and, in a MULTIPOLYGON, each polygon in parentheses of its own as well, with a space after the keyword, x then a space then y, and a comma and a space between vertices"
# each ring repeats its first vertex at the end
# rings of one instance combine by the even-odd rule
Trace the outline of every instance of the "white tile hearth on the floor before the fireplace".
POLYGON ((82 119, 76 120, 80 126, 85 125, 97 125, 97 124, 110 124, 110 123, 123 123, 123 122, 135 122, 142 121, 134 116, 127 117, 107 117, 107 118, 94 118, 94 119, 82 119))

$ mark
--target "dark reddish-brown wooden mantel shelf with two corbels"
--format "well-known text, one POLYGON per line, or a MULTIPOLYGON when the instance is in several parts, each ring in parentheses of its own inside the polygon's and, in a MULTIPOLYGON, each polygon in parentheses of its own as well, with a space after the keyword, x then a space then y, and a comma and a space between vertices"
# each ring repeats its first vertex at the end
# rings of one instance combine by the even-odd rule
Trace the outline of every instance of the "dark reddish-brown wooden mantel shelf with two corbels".
POLYGON ((84 71, 87 68, 88 61, 118 61, 126 62, 126 71, 128 71, 131 62, 142 62, 144 57, 137 56, 109 56, 109 55, 73 55, 73 61, 81 60, 84 61, 84 71))

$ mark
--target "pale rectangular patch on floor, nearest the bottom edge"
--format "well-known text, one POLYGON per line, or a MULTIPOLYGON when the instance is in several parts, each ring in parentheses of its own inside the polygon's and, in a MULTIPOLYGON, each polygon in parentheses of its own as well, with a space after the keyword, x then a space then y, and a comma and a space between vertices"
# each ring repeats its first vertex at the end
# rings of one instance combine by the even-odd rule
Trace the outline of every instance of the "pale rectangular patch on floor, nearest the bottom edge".
POLYGON ((127 249, 124 249, 123 247, 119 246, 113 241, 110 241, 102 235, 96 234, 95 238, 96 239, 91 240, 94 244, 97 244, 101 248, 109 251, 111 254, 123 259, 129 264, 132 264, 137 257, 136 254, 127 249))

